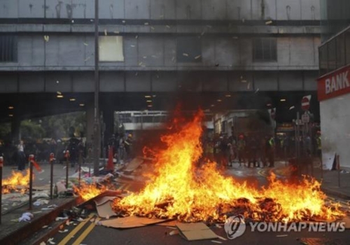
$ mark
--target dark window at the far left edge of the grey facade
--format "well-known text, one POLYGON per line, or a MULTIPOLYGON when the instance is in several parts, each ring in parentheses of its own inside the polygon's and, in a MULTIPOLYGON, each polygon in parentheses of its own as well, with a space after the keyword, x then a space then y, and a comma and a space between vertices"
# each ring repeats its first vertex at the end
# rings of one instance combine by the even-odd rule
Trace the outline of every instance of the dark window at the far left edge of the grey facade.
POLYGON ((0 62, 17 62, 17 36, 0 36, 0 62))

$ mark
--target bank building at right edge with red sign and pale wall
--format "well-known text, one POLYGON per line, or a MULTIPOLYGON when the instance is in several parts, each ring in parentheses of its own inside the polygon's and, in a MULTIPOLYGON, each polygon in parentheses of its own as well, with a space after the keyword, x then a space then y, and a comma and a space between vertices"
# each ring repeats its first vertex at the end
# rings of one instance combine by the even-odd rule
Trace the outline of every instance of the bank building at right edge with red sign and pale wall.
POLYGON ((332 168, 332 157, 339 155, 340 165, 350 167, 350 2, 323 1, 323 36, 319 48, 320 101, 323 163, 332 168))

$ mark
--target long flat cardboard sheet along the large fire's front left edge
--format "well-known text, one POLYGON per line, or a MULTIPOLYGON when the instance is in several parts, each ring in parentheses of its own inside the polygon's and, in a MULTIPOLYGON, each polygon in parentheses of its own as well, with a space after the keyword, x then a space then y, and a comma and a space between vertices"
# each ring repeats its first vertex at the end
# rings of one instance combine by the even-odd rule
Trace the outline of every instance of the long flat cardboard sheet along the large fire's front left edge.
POLYGON ((136 216, 129 216, 124 218, 113 218, 107 221, 101 221, 101 225, 111 228, 137 228, 146 225, 152 225, 155 223, 165 222, 167 220, 161 220, 158 218, 141 218, 136 216))

